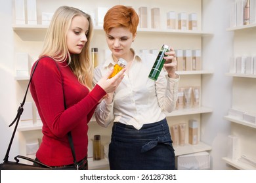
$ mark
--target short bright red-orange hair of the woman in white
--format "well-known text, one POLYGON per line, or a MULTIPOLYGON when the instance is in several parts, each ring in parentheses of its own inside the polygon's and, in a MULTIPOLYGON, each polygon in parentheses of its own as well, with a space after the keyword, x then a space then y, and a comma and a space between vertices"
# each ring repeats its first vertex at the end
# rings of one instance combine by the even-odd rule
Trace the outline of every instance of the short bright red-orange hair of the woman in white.
POLYGON ((106 12, 103 29, 109 33, 112 28, 126 27, 135 35, 138 24, 139 16, 133 8, 116 5, 106 12))

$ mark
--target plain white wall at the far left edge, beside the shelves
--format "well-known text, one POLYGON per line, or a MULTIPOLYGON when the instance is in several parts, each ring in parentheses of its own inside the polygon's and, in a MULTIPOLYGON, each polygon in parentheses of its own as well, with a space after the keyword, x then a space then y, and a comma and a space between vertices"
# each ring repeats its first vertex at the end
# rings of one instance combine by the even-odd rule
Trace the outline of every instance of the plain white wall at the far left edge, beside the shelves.
MULTIPOLYGON (((16 105, 16 80, 14 80, 14 44, 12 31, 12 1, 0 0, 0 161, 11 139, 16 105)), ((18 154, 18 134, 12 144, 10 158, 18 154)))

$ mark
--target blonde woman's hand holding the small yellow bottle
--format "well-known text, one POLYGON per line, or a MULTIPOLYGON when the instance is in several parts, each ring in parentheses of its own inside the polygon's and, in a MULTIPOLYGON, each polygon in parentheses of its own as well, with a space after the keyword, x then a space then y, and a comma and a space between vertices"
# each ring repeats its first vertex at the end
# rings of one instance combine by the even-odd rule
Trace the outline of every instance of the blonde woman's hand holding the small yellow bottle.
POLYGON ((123 68, 114 77, 109 79, 108 77, 113 72, 113 68, 110 69, 106 75, 102 76, 102 78, 100 78, 100 80, 98 80, 98 82, 97 82, 98 86, 100 86, 103 90, 105 90, 106 93, 114 92, 116 90, 117 86, 119 86, 121 80, 123 80, 123 77, 125 76, 125 74, 124 74, 125 71, 126 71, 126 69, 123 68))

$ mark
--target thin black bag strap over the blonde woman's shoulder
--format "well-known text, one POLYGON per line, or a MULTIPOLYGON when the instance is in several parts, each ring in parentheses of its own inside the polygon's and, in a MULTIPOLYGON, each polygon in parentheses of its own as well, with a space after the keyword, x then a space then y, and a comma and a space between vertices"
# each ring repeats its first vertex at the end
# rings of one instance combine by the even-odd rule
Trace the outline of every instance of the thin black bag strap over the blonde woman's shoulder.
MULTIPOLYGON (((47 56, 45 56, 47 57, 47 56)), ((42 57, 44 58, 44 57, 42 57)), ((40 58, 41 59, 41 58, 40 58)), ((24 99, 22 101, 22 103, 20 103, 20 107, 18 107, 18 110, 17 110, 17 114, 16 114, 16 117, 14 118, 13 122, 9 125, 9 127, 11 127, 15 122, 15 127, 14 127, 14 130, 12 132, 12 137, 11 137, 11 141, 9 142, 9 146, 7 148, 7 152, 5 154, 5 158, 3 159, 3 161, 8 161, 9 159, 9 154, 10 154, 10 150, 11 150, 11 146, 12 146, 12 142, 13 142, 13 139, 14 139, 14 135, 16 133, 16 130, 17 130, 17 127, 18 127, 18 122, 20 121, 20 116, 22 115, 22 112, 24 110, 24 104, 25 104, 25 101, 26 101, 26 97, 27 97, 27 94, 28 94, 28 89, 30 88, 30 83, 32 82, 32 77, 33 77, 33 73, 35 73, 35 69, 37 67, 37 64, 39 63, 39 60, 40 59, 37 59, 37 61, 35 62, 35 66, 33 67, 33 71, 32 71, 32 74, 30 76, 30 81, 28 82, 28 86, 27 86, 27 89, 26 89, 26 92, 25 92, 25 95, 24 95, 24 99)), ((58 64, 56 63, 57 67, 58 67, 58 64)), ((58 70, 60 71, 59 67, 58 67, 58 70)), ((61 74, 61 73, 60 73, 61 74)), ((62 81, 62 85, 63 85, 63 81, 62 81)), ((63 87, 62 87, 63 88, 63 87)), ((64 88, 63 88, 63 95, 64 95, 64 88)), ((65 97, 64 97, 64 106, 65 106, 65 109, 66 109, 66 101, 65 101, 65 97)), ((72 135, 71 135, 71 132, 68 132, 68 141, 70 143, 70 148, 72 150, 72 156, 74 158, 74 164, 75 166, 77 167, 78 169, 78 164, 77 164, 77 161, 76 161, 76 158, 75 158, 75 149, 74 149, 74 143, 73 143, 73 140, 72 140, 72 135)))

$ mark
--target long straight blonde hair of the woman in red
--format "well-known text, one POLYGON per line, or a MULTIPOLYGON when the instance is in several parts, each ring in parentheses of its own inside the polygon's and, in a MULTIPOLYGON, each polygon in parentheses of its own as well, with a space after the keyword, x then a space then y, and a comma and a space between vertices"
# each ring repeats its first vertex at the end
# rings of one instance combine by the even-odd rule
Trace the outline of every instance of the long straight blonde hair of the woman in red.
POLYGON ((68 59, 68 65, 70 65, 79 82, 91 89, 93 88, 93 63, 90 59, 92 37, 93 24, 89 14, 74 7, 59 7, 54 12, 49 29, 47 29, 43 51, 39 58, 50 56, 56 61, 66 61, 68 59), (89 21, 87 42, 80 54, 70 54, 66 43, 66 35, 74 16, 84 16, 89 21))

